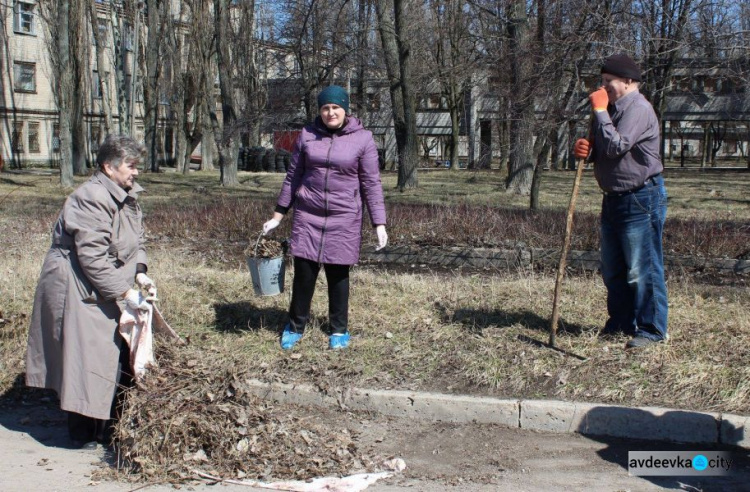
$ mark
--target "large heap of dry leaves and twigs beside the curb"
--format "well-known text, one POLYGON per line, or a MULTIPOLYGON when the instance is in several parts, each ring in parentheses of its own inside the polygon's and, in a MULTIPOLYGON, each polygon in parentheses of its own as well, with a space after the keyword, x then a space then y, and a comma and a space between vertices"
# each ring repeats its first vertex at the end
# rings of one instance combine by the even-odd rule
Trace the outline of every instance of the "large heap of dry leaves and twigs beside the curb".
POLYGON ((304 480, 372 469, 346 428, 246 390, 242 363, 218 351, 157 346, 159 367, 129 391, 119 461, 136 479, 304 480))

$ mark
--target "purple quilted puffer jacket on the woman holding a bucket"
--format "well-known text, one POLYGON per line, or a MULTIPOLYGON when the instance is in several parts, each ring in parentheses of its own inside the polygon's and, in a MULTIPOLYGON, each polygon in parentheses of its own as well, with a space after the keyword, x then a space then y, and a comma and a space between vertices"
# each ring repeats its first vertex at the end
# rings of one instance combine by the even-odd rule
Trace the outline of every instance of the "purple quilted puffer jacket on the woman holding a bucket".
POLYGON ((320 118, 294 145, 277 210, 294 207, 291 252, 318 263, 353 265, 362 242, 362 207, 385 225, 385 202, 372 133, 348 117, 331 133, 320 118))

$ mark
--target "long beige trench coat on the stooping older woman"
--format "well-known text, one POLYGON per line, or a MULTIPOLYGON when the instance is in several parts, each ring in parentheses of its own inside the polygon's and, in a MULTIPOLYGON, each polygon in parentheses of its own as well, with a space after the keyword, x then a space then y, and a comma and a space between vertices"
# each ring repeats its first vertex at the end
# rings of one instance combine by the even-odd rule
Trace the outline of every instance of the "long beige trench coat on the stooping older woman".
POLYGON ((57 391, 63 410, 110 418, 122 338, 115 299, 146 264, 143 189, 97 172, 65 201, 34 296, 26 384, 57 391))

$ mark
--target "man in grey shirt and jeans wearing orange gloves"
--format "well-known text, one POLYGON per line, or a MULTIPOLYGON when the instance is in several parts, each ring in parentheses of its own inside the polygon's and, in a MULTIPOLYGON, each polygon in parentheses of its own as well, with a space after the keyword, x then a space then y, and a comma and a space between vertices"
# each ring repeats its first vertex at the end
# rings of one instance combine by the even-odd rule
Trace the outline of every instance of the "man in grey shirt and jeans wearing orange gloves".
POLYGON ((667 192, 661 172, 659 122, 639 92, 641 71, 627 55, 607 58, 602 87, 589 95, 589 139, 574 154, 590 156, 604 194, 601 269, 609 319, 603 332, 633 335, 627 348, 667 338, 667 288, 662 231, 667 192))

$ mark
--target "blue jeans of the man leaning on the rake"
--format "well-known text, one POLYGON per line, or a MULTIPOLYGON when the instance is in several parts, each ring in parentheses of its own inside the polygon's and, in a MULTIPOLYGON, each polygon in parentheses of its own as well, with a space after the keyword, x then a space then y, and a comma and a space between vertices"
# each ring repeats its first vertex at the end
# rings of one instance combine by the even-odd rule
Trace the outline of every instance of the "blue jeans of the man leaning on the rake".
POLYGON ((604 195, 601 269, 607 287, 605 330, 663 340, 667 336, 667 286, 662 231, 667 191, 661 175, 638 191, 604 195))

